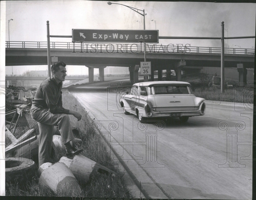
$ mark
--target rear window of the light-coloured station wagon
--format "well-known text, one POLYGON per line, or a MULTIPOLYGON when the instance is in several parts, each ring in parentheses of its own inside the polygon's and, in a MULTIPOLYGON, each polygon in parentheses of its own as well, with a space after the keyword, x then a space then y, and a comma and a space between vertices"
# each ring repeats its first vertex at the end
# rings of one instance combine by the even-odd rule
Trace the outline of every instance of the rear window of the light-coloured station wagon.
POLYGON ((154 85, 156 95, 162 94, 189 94, 186 85, 154 85))

